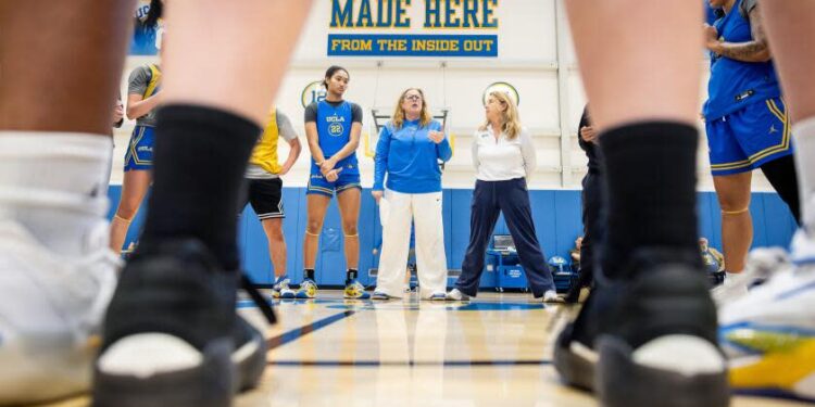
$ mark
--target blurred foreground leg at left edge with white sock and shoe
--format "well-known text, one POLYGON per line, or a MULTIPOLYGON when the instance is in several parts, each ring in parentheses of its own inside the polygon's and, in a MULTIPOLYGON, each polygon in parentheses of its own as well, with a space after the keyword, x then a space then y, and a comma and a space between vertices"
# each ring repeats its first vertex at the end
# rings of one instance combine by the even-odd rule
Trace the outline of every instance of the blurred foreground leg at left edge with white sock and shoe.
POLYGON ((0 2, 0 404, 87 391, 133 1, 0 2))

